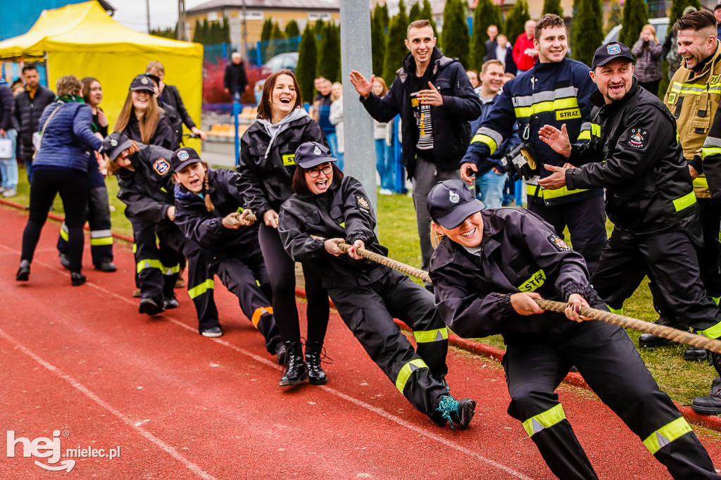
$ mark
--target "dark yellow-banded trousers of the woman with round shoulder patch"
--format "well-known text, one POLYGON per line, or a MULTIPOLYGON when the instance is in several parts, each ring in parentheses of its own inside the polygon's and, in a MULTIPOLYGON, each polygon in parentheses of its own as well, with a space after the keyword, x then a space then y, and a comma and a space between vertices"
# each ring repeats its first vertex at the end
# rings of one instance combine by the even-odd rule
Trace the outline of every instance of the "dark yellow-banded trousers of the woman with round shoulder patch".
POLYGON ((128 219, 133 225, 136 282, 141 298, 153 298, 156 302, 172 298, 180 270, 177 250, 166 241, 156 240, 154 223, 133 216, 128 219))

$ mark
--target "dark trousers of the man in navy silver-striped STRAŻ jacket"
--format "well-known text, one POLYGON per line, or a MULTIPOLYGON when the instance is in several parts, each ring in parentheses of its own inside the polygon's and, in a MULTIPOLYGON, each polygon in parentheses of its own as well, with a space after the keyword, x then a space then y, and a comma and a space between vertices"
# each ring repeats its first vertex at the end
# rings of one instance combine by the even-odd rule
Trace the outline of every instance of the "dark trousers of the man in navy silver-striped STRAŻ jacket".
POLYGON ((583 255, 588 272, 596 268, 606 244, 606 208, 603 197, 547 206, 543 200, 528 195, 528 210, 550 223, 560 239, 568 227, 573 249, 583 255))

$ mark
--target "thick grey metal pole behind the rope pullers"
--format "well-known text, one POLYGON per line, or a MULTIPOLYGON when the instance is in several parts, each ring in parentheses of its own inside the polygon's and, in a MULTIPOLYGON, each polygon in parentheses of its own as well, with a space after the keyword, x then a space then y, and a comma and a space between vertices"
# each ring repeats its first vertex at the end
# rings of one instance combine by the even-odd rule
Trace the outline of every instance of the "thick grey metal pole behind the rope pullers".
MULTIPOLYGON (((340 2, 340 58, 343 84, 343 138, 345 172, 357 178, 378 205, 376 190, 376 148, 373 120, 358 102, 358 93, 350 83, 350 70, 358 70, 371 78, 371 5, 368 0, 340 2)), ((377 208, 376 208, 377 210, 377 208)))

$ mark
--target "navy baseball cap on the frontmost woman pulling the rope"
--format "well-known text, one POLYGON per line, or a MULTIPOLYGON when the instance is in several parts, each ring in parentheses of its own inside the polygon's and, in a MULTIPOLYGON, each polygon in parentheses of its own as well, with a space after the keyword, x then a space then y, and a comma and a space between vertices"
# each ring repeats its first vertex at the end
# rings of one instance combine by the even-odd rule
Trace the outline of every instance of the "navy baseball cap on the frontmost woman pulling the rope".
POLYGON ((443 180, 428 192, 425 201, 430 218, 443 228, 456 228, 474 213, 486 208, 461 179, 443 180))

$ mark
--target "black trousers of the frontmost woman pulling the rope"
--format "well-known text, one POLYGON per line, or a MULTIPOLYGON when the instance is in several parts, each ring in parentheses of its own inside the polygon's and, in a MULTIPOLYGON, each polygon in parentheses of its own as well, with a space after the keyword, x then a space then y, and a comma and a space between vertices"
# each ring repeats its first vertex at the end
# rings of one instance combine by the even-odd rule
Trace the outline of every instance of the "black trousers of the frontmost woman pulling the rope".
MULTIPOLYGON (((600 264, 599 264, 600 265, 600 264)), ((603 308, 603 305, 594 305, 603 308)), ((570 321, 562 314, 559 324, 570 321)), ((503 356, 511 401, 508 414, 523 422, 559 479, 597 479, 555 393, 576 365, 593 388, 640 437, 674 479, 719 479, 703 445, 668 395, 660 391, 631 339, 619 326, 591 320, 559 334, 509 342, 503 356)))

